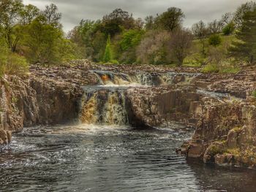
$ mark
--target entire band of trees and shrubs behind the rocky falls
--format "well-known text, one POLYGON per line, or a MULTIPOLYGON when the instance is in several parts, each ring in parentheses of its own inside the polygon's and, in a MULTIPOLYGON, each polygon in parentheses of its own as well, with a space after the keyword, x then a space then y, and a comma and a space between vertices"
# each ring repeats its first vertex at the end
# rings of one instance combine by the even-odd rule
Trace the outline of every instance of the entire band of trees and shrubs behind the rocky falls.
POLYGON ((78 58, 97 63, 203 66, 203 72, 236 72, 255 64, 256 3, 210 23, 183 26, 176 7, 145 19, 114 9, 101 20, 80 21, 68 34, 55 4, 38 9, 21 0, 0 0, 1 74, 23 74, 29 64, 64 64, 78 58))

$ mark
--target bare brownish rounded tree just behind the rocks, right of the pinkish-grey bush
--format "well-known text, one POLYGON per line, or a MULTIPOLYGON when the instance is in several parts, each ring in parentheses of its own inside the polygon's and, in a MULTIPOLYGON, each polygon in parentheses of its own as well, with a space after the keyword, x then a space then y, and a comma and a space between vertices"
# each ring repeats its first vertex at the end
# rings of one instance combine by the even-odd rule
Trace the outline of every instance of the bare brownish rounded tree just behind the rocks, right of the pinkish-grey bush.
POLYGON ((171 35, 170 50, 178 60, 178 66, 183 64, 184 58, 189 54, 189 49, 192 45, 192 34, 187 29, 180 29, 171 35))

